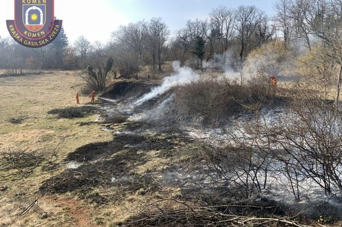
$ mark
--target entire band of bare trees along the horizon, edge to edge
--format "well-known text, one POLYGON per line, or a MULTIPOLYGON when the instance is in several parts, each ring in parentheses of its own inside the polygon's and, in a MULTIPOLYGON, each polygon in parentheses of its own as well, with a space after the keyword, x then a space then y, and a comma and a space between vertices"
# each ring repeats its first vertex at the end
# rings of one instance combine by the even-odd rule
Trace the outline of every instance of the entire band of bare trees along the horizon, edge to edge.
POLYGON ((172 60, 195 69, 210 62, 239 71, 251 52, 274 40, 295 56, 320 42, 341 67, 342 0, 277 0, 274 10, 270 17, 254 5, 219 6, 208 18, 188 20, 173 34, 160 17, 137 21, 113 31, 106 44, 80 36, 70 45, 63 29, 51 45, 39 49, 0 38, 0 68, 85 69, 112 57, 114 74, 125 78, 137 76, 144 65, 163 71, 163 63, 172 60))

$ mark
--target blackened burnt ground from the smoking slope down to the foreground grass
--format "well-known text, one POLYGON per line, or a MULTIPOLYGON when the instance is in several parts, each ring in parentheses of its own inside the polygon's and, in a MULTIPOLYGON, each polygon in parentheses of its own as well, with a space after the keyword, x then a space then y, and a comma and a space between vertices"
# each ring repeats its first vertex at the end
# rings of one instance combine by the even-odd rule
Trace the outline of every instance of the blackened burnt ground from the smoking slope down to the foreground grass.
MULTIPOLYGON (((66 169, 61 174, 44 181, 39 192, 41 194, 73 192, 80 198, 106 204, 108 200, 103 199, 103 195, 93 192, 96 188, 108 190, 112 188, 113 191, 119 192, 116 200, 134 194, 141 188, 150 193, 160 190, 163 186, 153 175, 168 176, 169 169, 147 170, 145 174, 137 174, 136 168, 155 158, 172 159, 179 147, 189 143, 190 139, 179 129, 176 121, 171 120, 171 109, 164 109, 160 118, 147 115, 144 119, 134 119, 134 114, 151 111, 153 114, 153 110, 170 97, 171 92, 168 92, 137 107, 132 108, 127 104, 150 92, 155 86, 157 84, 150 82, 120 82, 112 91, 103 94, 102 97, 115 99, 118 102, 99 101, 97 104, 103 109, 89 111, 100 113, 103 121, 80 123, 80 127, 97 123, 106 128, 120 125, 122 129, 113 131, 112 140, 109 142, 90 143, 70 153, 65 159, 65 165, 69 162, 78 162, 82 165, 77 169, 66 169), (125 111, 128 108, 130 111, 125 111), (132 116, 133 119, 129 120, 132 116), (150 151, 158 151, 158 155, 150 157, 150 151), (150 172, 153 172, 153 175, 150 172)), ((179 169, 176 166, 171 168, 179 169)), ((166 180, 161 181, 174 186, 176 181, 169 178, 168 176, 166 180)))

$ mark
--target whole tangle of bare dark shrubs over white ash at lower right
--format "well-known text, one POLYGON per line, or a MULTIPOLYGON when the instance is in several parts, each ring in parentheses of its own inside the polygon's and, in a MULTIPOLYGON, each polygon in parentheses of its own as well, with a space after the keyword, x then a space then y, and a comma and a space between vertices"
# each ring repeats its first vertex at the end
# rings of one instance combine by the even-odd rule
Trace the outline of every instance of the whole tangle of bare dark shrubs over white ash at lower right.
POLYGON ((201 174, 213 185, 234 186, 246 199, 274 184, 296 200, 304 185, 341 198, 341 107, 321 89, 296 86, 288 96, 286 114, 271 110, 270 118, 256 109, 254 117, 222 126, 220 146, 203 144, 196 153, 203 165, 198 169, 206 170, 201 174))

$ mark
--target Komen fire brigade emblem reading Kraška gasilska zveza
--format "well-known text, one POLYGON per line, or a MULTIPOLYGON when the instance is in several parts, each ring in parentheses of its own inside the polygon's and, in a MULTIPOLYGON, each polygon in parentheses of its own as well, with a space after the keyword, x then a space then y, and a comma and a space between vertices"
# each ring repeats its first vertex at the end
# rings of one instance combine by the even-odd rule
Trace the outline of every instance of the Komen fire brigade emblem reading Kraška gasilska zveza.
POLYGON ((11 37, 30 48, 50 44, 62 29, 62 20, 55 20, 54 0, 14 0, 14 20, 6 23, 11 37))

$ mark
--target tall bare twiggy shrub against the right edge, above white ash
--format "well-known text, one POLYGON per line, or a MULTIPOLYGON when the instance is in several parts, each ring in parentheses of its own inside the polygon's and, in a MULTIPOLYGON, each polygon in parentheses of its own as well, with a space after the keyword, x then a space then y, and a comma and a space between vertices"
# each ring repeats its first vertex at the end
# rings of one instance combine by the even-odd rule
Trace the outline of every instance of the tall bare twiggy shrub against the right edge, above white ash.
MULTIPOLYGON (((311 179, 324 192, 342 193, 342 109, 321 89, 295 87, 291 122, 274 129, 273 140, 287 154, 287 163, 299 179, 311 179)), ((298 195, 299 198, 299 195, 298 195)))

